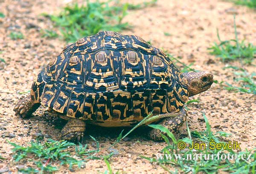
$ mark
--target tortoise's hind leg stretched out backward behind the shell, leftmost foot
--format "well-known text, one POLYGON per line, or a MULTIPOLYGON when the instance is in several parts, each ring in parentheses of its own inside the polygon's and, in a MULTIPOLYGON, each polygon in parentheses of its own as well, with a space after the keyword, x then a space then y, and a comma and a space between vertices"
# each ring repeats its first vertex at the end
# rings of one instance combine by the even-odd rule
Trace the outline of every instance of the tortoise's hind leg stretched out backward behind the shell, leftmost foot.
POLYGON ((35 112, 38 107, 40 107, 40 105, 40 103, 34 103, 29 94, 21 99, 13 110, 15 111, 15 115, 20 115, 22 118, 29 118, 32 113, 35 112))

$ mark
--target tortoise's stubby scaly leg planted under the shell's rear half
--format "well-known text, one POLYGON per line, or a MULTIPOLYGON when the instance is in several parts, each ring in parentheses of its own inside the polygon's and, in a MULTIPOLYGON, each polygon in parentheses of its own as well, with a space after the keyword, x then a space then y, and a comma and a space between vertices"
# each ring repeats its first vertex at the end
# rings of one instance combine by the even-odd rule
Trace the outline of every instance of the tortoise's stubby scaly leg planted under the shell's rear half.
POLYGON ((61 130, 61 139, 82 142, 85 131, 85 123, 82 120, 72 118, 61 130))

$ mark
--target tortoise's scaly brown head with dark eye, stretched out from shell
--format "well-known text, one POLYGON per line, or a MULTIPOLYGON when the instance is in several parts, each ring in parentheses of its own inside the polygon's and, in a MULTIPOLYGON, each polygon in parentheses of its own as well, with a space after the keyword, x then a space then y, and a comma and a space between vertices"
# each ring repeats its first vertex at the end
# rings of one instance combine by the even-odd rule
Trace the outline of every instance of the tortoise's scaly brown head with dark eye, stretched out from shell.
POLYGON ((183 76, 188 81, 189 97, 203 93, 208 90, 213 83, 213 75, 209 71, 183 73, 183 76))

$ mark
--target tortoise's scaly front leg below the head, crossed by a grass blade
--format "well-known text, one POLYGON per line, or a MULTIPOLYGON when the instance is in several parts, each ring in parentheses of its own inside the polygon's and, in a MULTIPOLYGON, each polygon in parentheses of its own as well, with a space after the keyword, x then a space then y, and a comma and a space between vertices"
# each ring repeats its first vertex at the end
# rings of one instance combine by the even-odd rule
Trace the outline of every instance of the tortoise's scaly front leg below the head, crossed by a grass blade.
MULTIPOLYGON (((175 132, 186 121, 187 112, 183 107, 179 112, 175 113, 175 117, 172 117, 172 114, 174 113, 170 113, 170 117, 163 118, 157 124, 165 126, 170 132, 175 132)), ((151 131, 148 132, 148 137, 151 140, 160 141, 163 140, 162 136, 160 135, 161 133, 166 135, 166 133, 160 131, 159 129, 151 129, 151 131)))

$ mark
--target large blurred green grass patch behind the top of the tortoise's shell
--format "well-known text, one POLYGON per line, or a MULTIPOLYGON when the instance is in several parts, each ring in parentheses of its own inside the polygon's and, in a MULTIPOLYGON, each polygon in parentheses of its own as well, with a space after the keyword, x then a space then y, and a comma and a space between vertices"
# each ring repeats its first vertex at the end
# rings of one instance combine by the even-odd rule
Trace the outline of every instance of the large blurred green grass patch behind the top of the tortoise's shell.
POLYGON ((77 39, 90 36, 99 31, 121 31, 131 28, 128 22, 122 22, 127 15, 128 9, 139 9, 154 4, 151 2, 133 5, 130 3, 122 4, 119 0, 108 0, 107 2, 90 2, 87 0, 86 6, 79 6, 78 3, 66 6, 58 15, 48 15, 61 31, 61 36, 67 42, 76 42, 77 39), (111 4, 114 3, 113 6, 111 4))

